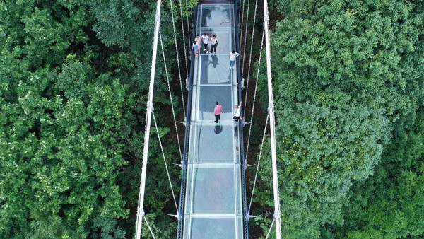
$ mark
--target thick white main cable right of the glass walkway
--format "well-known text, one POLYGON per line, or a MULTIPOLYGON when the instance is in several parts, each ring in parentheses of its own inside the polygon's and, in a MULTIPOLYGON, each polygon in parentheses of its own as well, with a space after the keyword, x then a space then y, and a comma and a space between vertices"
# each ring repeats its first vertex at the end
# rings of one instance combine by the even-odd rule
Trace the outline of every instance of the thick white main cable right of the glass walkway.
POLYGON ((264 0, 264 28, 265 28, 265 47, 266 47, 266 75, 268 78, 268 100, 269 100, 269 128, 271 133, 271 160, 274 194, 274 219, 276 220, 276 238, 281 239, 281 211, 280 195, 278 192, 278 173, 277 173, 277 153, 276 153, 276 123, 274 116, 274 103, 272 94, 271 79, 271 47, 269 38, 269 14, 268 0, 264 0))

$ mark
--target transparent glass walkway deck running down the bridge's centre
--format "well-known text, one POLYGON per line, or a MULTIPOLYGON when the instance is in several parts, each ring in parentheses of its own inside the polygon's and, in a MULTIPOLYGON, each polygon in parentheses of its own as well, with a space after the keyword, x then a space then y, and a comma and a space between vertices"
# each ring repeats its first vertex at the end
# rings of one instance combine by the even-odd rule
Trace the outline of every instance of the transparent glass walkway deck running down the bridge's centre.
MULTIPOLYGON (((216 54, 201 46, 194 59, 182 238, 243 238, 240 132, 232 119, 237 104, 233 4, 199 5, 196 33, 216 35, 216 54), (215 123, 215 102, 223 105, 215 123)), ((209 45, 210 47, 210 45, 209 45)))

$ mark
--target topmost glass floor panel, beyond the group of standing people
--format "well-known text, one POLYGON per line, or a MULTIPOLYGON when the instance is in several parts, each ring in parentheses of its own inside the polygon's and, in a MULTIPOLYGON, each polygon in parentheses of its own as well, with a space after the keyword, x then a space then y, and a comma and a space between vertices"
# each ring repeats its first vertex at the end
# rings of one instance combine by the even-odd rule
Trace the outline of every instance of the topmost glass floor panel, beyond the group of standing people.
POLYGON ((234 25, 231 21, 232 13, 230 9, 232 10, 229 4, 202 5, 201 27, 230 27, 234 25))

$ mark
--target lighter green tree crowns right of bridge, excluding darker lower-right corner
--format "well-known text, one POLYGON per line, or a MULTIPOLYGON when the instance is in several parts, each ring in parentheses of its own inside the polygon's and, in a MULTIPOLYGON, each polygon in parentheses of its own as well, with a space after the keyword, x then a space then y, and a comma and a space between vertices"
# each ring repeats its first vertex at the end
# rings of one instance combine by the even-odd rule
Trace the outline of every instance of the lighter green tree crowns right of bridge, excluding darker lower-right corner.
MULTIPOLYGON (((423 11, 418 2, 340 0, 278 9, 285 19, 271 45, 283 236, 319 238, 324 226, 343 224, 351 187, 372 175, 395 123, 422 102, 423 11)), ((261 177, 271 182, 266 162, 261 177)), ((271 199, 269 189, 260 191, 271 199)))

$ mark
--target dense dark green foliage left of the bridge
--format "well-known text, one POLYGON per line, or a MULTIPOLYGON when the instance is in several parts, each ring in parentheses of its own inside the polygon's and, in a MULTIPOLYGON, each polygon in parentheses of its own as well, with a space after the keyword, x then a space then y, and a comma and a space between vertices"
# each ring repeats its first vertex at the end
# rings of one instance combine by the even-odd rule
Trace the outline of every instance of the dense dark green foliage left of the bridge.
MULTIPOLYGON (((0 238, 132 236, 155 8, 131 0, 0 3, 0 238)), ((164 25, 169 15, 164 8, 164 25)), ((170 33, 162 29, 165 48, 170 33)), ((175 65, 175 52, 167 56, 175 65)), ((155 114, 165 126, 160 109, 170 100, 158 64, 155 114)), ((165 155, 178 163, 165 139, 165 155)), ((145 211, 167 238, 175 218, 163 212, 175 208, 167 206, 155 131, 150 153, 145 211)), ((179 168, 171 173, 178 192, 179 168)))

